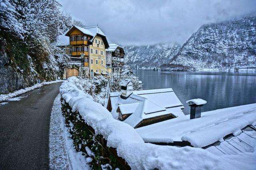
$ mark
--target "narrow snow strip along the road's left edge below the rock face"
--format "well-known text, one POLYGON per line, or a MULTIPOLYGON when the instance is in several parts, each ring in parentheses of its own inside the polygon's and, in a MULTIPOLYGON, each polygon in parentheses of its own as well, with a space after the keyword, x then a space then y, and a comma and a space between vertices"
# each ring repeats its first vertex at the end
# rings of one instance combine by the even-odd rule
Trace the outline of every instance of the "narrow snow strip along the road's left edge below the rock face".
MULTIPOLYGON (((0 102, 1 101, 4 101, 4 100, 8 100, 9 98, 13 98, 15 96, 18 96, 20 94, 23 94, 25 92, 28 92, 30 90, 34 90, 36 88, 39 88, 39 87, 42 87, 46 84, 52 84, 52 83, 57 83, 57 82, 62 82, 63 80, 55 80, 55 81, 50 81, 50 82, 42 82, 42 83, 38 83, 38 84, 35 84, 34 86, 31 86, 31 87, 27 87, 27 88, 24 88, 24 89, 20 89, 20 90, 17 90, 15 92, 12 92, 12 93, 9 93, 9 94, 0 94, 0 102)), ((14 101, 14 100, 12 100, 14 101)))

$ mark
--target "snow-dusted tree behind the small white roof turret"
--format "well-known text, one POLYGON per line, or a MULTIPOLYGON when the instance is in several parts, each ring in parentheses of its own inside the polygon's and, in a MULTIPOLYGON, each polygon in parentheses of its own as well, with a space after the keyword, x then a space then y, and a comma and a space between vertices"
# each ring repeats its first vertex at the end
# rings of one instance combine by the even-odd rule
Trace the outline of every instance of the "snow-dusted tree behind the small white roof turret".
POLYGON ((134 90, 142 90, 142 83, 139 80, 138 76, 134 74, 132 69, 126 68, 126 69, 123 69, 120 74, 113 73, 113 75, 114 75, 113 78, 110 79, 111 92, 116 92, 116 91, 119 92, 121 90, 119 83, 125 78, 132 80, 134 90))

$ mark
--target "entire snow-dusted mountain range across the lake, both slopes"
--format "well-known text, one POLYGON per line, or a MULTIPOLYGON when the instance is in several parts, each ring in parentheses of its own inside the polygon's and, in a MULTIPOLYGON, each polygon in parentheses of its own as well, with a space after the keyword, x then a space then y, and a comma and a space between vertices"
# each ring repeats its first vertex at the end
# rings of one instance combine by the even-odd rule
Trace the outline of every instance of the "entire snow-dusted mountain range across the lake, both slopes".
POLYGON ((132 68, 221 68, 256 66, 256 16, 201 26, 179 45, 124 46, 132 68))

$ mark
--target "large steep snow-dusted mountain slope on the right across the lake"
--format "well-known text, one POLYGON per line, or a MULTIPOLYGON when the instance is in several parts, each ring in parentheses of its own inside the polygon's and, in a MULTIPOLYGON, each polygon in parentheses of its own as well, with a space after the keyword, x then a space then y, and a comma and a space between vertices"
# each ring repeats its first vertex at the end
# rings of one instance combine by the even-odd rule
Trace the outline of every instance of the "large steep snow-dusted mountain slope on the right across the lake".
POLYGON ((256 66, 256 17, 201 26, 171 63, 194 68, 256 66))

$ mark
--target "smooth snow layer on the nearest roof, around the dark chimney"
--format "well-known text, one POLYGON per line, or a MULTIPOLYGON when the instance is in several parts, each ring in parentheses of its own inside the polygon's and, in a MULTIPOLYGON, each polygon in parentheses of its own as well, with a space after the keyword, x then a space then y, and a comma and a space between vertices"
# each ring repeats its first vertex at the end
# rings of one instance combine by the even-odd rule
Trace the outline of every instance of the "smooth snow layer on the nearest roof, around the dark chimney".
POLYGON ((208 146, 228 134, 239 134, 247 125, 256 124, 256 104, 202 112, 158 122, 136 129, 145 142, 188 141, 194 147, 208 146))

